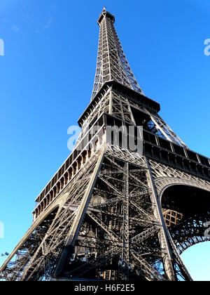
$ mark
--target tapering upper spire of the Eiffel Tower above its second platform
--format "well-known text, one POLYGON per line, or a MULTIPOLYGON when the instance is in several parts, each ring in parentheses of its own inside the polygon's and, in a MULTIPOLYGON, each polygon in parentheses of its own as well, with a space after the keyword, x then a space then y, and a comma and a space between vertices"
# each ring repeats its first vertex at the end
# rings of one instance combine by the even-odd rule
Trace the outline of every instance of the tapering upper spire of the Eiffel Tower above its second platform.
POLYGON ((99 50, 92 99, 106 81, 118 81, 130 89, 144 94, 127 62, 114 22, 114 15, 106 11, 104 7, 98 19, 100 27, 99 50))

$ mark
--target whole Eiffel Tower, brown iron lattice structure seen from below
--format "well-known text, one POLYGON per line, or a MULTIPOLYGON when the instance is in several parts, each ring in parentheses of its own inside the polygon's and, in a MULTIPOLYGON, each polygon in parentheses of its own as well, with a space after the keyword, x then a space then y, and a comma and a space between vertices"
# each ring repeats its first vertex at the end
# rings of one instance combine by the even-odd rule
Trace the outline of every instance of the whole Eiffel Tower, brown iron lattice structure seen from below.
POLYGON ((38 195, 31 228, 2 265, 1 280, 193 280, 181 254, 210 240, 210 162, 145 96, 114 22, 104 8, 76 147, 38 195), (124 140, 141 143, 142 152, 124 140))

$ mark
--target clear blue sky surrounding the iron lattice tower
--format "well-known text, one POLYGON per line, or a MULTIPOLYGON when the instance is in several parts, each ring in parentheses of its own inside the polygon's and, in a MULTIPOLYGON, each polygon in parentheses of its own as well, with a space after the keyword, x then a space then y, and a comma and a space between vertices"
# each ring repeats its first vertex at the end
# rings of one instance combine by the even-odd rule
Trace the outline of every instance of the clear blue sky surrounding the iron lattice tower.
MULTIPOLYGON (((209 0, 1 0, 0 253, 29 228, 34 199, 69 155, 67 129, 90 101, 103 6, 116 15, 146 95, 192 150, 210 157, 209 0)), ((210 280, 202 265, 210 263, 209 246, 183 256, 197 280, 210 280)))

